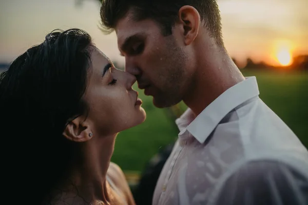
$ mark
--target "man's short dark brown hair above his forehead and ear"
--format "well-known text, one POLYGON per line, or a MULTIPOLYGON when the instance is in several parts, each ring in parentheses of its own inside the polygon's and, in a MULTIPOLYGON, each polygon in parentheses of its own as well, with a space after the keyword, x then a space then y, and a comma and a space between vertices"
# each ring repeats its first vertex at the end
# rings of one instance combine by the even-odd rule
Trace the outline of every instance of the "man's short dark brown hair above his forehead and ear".
POLYGON ((179 9, 185 5, 197 9, 209 34, 216 39, 218 45, 223 46, 217 0, 103 0, 102 30, 106 33, 112 32, 118 20, 132 9, 134 20, 153 19, 161 27, 162 33, 167 36, 172 34, 172 27, 178 19, 179 9))

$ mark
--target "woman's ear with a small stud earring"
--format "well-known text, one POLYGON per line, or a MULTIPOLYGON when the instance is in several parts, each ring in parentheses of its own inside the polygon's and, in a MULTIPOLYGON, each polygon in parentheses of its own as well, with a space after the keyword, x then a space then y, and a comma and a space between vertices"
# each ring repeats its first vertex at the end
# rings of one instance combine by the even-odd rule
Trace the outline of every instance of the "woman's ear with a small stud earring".
POLYGON ((84 121, 82 116, 70 121, 64 129, 63 135, 67 139, 76 142, 88 141, 93 137, 90 125, 87 121, 84 121))

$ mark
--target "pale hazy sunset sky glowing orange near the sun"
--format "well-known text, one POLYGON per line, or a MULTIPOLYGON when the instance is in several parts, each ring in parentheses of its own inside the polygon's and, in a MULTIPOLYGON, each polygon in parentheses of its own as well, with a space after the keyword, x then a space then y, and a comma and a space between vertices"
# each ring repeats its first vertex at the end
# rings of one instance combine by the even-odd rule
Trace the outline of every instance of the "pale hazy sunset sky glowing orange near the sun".
MULTIPOLYGON (((114 33, 98 29, 99 4, 86 0, 0 0, 0 61, 9 63, 53 29, 80 28, 111 59, 124 62, 114 33)), ((308 54, 308 0, 218 0, 228 53, 277 64, 308 54)))

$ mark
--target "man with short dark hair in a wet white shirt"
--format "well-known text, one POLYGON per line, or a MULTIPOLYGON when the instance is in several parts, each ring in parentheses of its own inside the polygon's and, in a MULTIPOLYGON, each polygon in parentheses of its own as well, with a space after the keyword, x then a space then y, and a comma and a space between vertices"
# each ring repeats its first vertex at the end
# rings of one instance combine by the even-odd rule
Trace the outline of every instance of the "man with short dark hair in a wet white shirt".
POLYGON ((215 0, 106 0, 101 19, 153 104, 188 106, 153 204, 308 204, 308 152, 228 56, 215 0))

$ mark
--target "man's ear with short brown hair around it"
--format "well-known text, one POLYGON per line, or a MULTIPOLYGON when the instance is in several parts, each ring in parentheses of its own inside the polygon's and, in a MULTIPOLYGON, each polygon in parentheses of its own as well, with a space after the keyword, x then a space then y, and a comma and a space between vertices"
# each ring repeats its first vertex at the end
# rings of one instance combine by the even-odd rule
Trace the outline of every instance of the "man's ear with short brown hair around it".
POLYGON ((192 6, 183 6, 179 10, 179 20, 182 25, 185 45, 194 42, 199 32, 200 14, 192 6))

